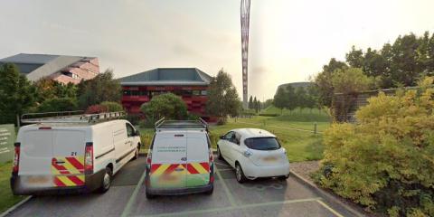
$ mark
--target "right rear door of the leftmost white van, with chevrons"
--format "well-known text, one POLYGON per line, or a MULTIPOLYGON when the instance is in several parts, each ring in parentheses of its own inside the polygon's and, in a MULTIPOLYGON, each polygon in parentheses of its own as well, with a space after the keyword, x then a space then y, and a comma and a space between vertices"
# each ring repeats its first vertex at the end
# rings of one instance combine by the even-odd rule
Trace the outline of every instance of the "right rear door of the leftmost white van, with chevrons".
POLYGON ((84 184, 85 131, 52 130, 52 175, 56 186, 84 184))

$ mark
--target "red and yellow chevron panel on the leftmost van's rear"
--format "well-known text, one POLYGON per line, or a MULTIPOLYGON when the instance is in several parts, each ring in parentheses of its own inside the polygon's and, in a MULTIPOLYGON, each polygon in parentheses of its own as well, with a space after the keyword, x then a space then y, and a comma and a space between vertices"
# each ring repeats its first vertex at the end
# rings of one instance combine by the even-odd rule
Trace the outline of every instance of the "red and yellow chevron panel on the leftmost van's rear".
POLYGON ((84 185, 84 157, 60 156, 52 158, 52 174, 55 175, 55 186, 79 186, 84 185), (63 164, 56 162, 63 161, 63 164))

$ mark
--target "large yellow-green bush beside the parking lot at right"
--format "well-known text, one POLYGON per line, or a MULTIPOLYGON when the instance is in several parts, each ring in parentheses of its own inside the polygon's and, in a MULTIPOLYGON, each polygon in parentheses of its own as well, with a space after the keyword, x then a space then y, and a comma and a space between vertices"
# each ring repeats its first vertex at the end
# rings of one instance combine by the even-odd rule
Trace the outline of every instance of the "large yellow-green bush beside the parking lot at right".
POLYGON ((380 93, 356 113, 357 125, 325 131, 319 183, 368 209, 434 215, 434 89, 380 93))

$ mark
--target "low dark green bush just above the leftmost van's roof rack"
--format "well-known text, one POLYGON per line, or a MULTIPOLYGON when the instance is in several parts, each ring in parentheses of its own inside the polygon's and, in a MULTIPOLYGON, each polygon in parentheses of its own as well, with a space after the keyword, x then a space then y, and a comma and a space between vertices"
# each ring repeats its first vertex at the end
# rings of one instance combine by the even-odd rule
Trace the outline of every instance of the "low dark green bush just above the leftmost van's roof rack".
POLYGON ((72 111, 77 110, 77 101, 72 98, 47 99, 39 105, 38 112, 72 111))

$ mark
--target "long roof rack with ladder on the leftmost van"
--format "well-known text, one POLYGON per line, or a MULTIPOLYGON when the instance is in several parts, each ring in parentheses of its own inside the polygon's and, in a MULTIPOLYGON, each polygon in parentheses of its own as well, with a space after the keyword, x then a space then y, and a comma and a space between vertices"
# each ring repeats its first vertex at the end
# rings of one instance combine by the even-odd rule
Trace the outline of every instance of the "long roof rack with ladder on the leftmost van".
POLYGON ((28 113, 21 116, 25 124, 42 123, 97 123, 125 116, 124 111, 84 114, 82 110, 28 113))

